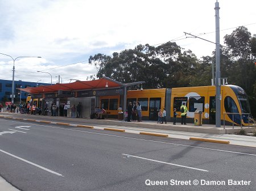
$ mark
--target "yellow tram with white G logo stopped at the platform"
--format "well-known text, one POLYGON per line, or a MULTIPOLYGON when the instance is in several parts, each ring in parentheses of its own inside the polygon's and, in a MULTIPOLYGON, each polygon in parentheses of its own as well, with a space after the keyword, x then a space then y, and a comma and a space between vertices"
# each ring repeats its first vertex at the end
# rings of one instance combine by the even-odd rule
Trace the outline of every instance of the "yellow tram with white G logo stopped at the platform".
MULTIPOLYGON (((201 111, 204 124, 215 124, 216 121, 216 87, 180 87, 180 88, 159 88, 152 90, 131 90, 127 91, 127 103, 138 102, 141 104, 142 117, 144 120, 157 120, 158 110, 166 108, 167 120, 174 117, 174 108, 180 114, 180 106, 185 103, 188 108, 187 121, 192 122, 195 111, 201 111)), ((117 108, 121 104, 121 96, 100 96, 100 106, 106 109, 110 116, 117 117, 117 108)), ((249 101, 245 91, 238 86, 221 86, 221 121, 223 113, 227 114, 225 121, 240 125, 248 125, 248 114, 250 113, 249 101)), ((180 116, 177 116, 180 118, 180 116)))

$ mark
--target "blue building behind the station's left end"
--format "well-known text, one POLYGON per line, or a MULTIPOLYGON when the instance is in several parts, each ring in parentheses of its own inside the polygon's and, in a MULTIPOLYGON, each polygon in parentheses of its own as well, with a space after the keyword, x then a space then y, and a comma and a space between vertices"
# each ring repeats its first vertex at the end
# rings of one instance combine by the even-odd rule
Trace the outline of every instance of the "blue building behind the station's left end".
MULTIPOLYGON (((0 79, 0 102, 3 100, 3 97, 7 97, 9 99, 9 101, 11 101, 11 84, 13 83, 12 80, 4 80, 4 79, 0 79)), ((17 102, 15 100, 20 99, 20 95, 19 95, 19 90, 17 90, 16 88, 20 88, 20 86, 22 86, 22 88, 26 88, 27 86, 29 87, 37 87, 40 85, 46 85, 49 86, 51 84, 49 83, 37 83, 37 82, 24 82, 24 81, 14 81, 14 93, 15 93, 15 99, 14 102, 17 102)), ((27 92, 22 92, 21 94, 21 99, 26 99, 27 98, 27 92)))

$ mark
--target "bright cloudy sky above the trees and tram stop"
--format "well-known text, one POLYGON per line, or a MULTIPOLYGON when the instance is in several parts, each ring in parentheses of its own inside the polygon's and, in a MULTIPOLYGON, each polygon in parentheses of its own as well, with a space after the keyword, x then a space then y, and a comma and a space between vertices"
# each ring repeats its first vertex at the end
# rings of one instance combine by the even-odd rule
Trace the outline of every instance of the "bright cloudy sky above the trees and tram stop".
MULTIPOLYGON (((239 26, 256 34, 256 1, 218 0, 220 43, 239 26)), ((215 45, 216 0, 0 0, 0 79, 55 84, 86 80, 88 59, 135 46, 176 42, 197 58, 215 45), (42 57, 42 58, 36 58, 42 57), (43 71, 44 73, 38 73, 43 71), (48 74, 49 73, 49 74, 48 74), (52 78, 51 78, 52 77, 52 78), (73 80, 71 80, 73 79, 73 80)))

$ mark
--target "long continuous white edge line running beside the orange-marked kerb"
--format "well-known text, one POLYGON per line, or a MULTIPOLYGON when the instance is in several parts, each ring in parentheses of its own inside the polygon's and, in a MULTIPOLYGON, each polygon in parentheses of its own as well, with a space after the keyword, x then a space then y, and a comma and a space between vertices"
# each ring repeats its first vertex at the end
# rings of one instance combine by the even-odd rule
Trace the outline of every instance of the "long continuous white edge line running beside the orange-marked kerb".
MULTIPOLYGON (((2 120, 2 121, 9 121, 9 120, 2 120)), ((16 122, 16 121, 13 121, 13 122, 16 122)), ((53 129, 63 129, 63 130, 79 131, 79 132, 84 132, 84 133, 92 133, 92 134, 106 135, 106 136, 110 136, 110 137, 120 137, 120 138, 126 138, 126 139, 134 139, 134 140, 141 140, 141 141, 162 143, 162 144, 167 144, 167 145, 175 145, 175 146, 191 147, 191 148, 200 148, 200 149, 211 150, 211 151, 220 151, 220 152, 229 152, 229 153, 233 153, 233 154, 241 154, 241 155, 256 156, 255 154, 249 154, 249 153, 245 153, 245 152, 225 151, 225 150, 220 150, 220 149, 215 149, 215 148, 197 147, 197 146, 191 146, 191 145, 181 145, 181 144, 176 144, 176 143, 167 143, 167 142, 162 142, 162 141, 152 141, 152 140, 147 140, 147 139, 139 139, 139 138, 132 138, 132 137, 123 137, 123 136, 119 136, 119 135, 110 135, 110 134, 104 134, 104 133, 95 133, 95 132, 83 131, 83 130, 76 130, 76 129, 57 128, 57 127, 55 127, 55 126, 31 124, 31 123, 28 123, 28 122, 20 122, 20 123, 22 123, 22 124, 29 124, 29 125, 36 125, 36 126, 46 126, 46 127, 48 127, 48 128, 53 128, 53 129)), ((10 130, 10 129, 9 129, 9 130, 10 130)))

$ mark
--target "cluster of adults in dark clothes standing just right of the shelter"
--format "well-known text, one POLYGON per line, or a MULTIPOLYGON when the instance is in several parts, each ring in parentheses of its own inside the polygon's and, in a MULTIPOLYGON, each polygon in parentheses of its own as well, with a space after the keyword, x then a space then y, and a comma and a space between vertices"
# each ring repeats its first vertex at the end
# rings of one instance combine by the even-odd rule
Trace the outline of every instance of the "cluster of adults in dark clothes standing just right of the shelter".
POLYGON ((141 111, 141 104, 139 101, 137 103, 134 102, 133 104, 129 102, 127 105, 127 110, 125 111, 125 121, 131 122, 138 120, 138 122, 141 122, 141 111))

